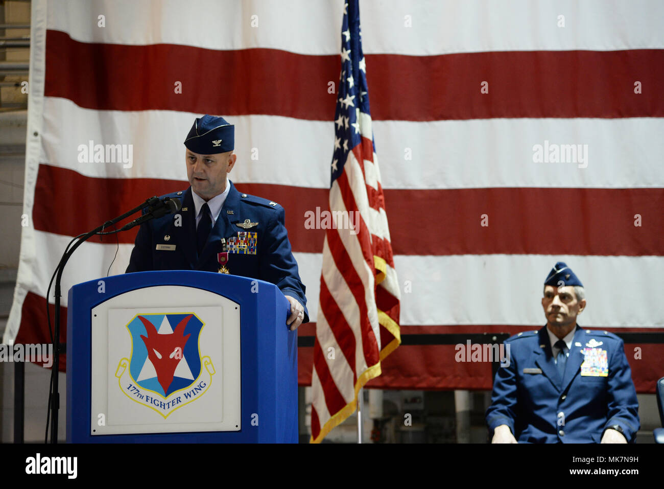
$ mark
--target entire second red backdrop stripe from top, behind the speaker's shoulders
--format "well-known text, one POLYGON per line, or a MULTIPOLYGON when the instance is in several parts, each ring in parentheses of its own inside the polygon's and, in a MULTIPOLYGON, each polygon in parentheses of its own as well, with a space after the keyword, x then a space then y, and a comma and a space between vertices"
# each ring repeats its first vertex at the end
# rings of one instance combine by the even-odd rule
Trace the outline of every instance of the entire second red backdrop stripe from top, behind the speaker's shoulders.
MULTIPOLYGON (((35 206, 35 229, 76 236, 135 207, 152 195, 186 189, 187 182, 161 179, 85 177, 40 165, 35 202, 58 204, 58 212, 35 206), (71 217, 75 216, 75 219, 71 217)), ((327 189, 238 183, 238 190, 260 195, 286 209, 286 228, 295 252, 319 253, 324 229, 305 229, 305 213, 328 209, 327 189)), ((664 256, 664 189, 387 189, 394 254, 582 254, 664 256), (481 215, 489 227, 481 227, 481 215), (634 215, 641 215, 641 227, 634 215), (564 219, 576 233, 552 234, 552 223, 564 219), (416 245, 414 230, 418 231, 416 245), (515 240, 515 236, 519 239, 515 240), (555 239, 552 239, 552 236, 555 239)), ((135 229, 120 233, 120 243, 133 243, 135 229)))

